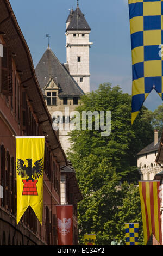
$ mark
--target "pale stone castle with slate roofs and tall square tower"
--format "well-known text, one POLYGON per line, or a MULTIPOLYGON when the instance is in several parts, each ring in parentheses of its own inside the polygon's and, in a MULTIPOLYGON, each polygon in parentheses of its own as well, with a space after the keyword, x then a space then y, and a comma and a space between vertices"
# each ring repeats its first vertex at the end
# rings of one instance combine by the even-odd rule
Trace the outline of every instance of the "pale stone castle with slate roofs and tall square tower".
POLYGON ((35 69, 53 121, 60 118, 59 122, 63 123, 63 129, 59 129, 57 134, 65 152, 71 147, 68 136, 70 130, 65 129, 65 124, 70 121, 70 113, 80 105, 80 97, 90 92, 90 31, 77 4, 76 10, 70 10, 66 20, 67 62, 61 64, 48 45, 35 69), (68 114, 65 111, 67 107, 68 114))

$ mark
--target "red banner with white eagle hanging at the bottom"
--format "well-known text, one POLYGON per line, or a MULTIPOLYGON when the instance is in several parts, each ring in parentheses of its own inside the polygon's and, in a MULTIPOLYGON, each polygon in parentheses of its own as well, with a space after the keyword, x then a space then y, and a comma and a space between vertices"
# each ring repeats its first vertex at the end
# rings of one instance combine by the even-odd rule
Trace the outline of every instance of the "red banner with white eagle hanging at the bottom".
POLYGON ((56 205, 58 245, 73 245, 73 205, 56 205))

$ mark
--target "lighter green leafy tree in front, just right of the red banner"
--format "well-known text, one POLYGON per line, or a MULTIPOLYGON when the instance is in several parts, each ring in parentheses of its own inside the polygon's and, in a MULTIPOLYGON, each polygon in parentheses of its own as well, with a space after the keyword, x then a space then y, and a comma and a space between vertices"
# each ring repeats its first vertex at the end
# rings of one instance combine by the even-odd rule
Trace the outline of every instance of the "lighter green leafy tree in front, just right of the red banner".
POLYGON ((108 245, 118 234, 115 214, 121 204, 120 179, 108 160, 101 162, 95 155, 84 157, 77 178, 84 197, 78 204, 80 244, 85 234, 96 234, 96 245, 108 245))

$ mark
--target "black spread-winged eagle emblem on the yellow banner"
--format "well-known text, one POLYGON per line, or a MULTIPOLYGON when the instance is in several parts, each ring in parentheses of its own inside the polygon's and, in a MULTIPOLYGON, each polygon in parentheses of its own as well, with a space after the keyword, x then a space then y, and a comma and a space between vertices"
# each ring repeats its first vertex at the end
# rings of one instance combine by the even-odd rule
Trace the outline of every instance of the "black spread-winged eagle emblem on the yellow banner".
POLYGON ((22 159, 17 159, 17 172, 18 175, 21 176, 22 179, 26 179, 34 181, 34 179, 39 179, 43 174, 43 158, 37 160, 32 164, 32 159, 26 159, 28 166, 24 164, 22 159), (28 179, 27 179, 28 178, 28 179))

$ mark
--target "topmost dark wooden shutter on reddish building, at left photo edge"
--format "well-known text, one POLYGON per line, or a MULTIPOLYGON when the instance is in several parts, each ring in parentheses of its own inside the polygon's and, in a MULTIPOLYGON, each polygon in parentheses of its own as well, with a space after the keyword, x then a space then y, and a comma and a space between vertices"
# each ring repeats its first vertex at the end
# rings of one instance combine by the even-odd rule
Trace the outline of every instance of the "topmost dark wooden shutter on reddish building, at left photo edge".
POLYGON ((3 46, 3 57, 1 59, 1 93, 12 96, 12 54, 6 46, 3 46))

